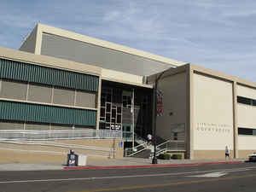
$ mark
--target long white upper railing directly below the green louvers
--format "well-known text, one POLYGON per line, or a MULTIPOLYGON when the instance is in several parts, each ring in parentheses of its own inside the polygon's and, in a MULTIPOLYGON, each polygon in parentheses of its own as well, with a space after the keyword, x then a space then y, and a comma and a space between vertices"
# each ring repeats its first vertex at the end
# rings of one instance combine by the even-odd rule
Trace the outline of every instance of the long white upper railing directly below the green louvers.
POLYGON ((0 140, 50 140, 50 139, 82 139, 82 138, 123 138, 122 131, 108 130, 1 130, 0 140))

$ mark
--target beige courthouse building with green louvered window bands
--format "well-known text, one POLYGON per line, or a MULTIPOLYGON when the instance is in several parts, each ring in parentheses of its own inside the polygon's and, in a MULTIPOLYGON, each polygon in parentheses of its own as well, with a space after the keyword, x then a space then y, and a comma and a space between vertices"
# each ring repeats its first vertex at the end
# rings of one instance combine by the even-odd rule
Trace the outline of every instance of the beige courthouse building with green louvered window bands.
POLYGON ((42 24, 20 50, 0 48, 0 129, 145 138, 160 75, 159 141, 183 140, 174 152, 189 159, 222 159, 225 146, 236 158, 256 151, 255 83, 42 24))

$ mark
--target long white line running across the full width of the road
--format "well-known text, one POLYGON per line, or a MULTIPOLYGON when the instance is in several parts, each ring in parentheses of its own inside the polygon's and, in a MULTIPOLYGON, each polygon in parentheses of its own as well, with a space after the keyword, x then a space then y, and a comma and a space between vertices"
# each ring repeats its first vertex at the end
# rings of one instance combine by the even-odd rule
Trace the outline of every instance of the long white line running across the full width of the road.
MULTIPOLYGON (((256 169, 256 166, 241 167, 237 169, 214 170, 214 172, 244 172, 256 169)), ((81 180, 96 180, 96 179, 112 179, 112 178, 131 178, 131 177, 163 177, 163 176, 178 176, 185 174, 200 174, 213 171, 195 171, 195 172, 175 172, 175 173, 160 173, 160 174, 144 174, 144 175, 126 175, 112 177, 76 177, 76 178, 49 178, 49 179, 33 179, 33 180, 17 180, 17 181, 1 181, 0 183, 36 183, 36 182, 65 182, 65 181, 81 181, 81 180)))

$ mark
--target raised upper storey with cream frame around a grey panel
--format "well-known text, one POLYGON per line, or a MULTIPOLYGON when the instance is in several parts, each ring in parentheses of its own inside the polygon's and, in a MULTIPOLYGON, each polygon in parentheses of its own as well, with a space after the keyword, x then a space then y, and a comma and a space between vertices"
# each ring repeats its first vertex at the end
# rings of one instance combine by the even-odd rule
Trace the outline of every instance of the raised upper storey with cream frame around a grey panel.
POLYGON ((139 76, 150 75, 169 67, 183 64, 142 50, 131 49, 96 38, 90 38, 75 32, 38 24, 31 36, 26 38, 20 50, 36 55, 49 55, 57 58, 87 63, 106 69, 139 76), (36 33, 36 39, 34 37, 36 33), (26 45, 29 46, 26 46, 26 45))

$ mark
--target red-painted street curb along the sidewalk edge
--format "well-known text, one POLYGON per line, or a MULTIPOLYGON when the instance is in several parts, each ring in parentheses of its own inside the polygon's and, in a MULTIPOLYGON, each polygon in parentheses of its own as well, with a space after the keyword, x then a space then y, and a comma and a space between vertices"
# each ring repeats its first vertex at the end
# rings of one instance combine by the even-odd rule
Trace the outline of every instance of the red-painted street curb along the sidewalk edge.
POLYGON ((161 164, 161 165, 143 165, 143 166, 65 166, 64 170, 96 170, 96 169, 131 169, 131 168, 155 168, 155 167, 172 167, 172 166, 207 166, 219 164, 238 164, 241 160, 227 162, 203 162, 203 163, 187 163, 187 164, 161 164))

